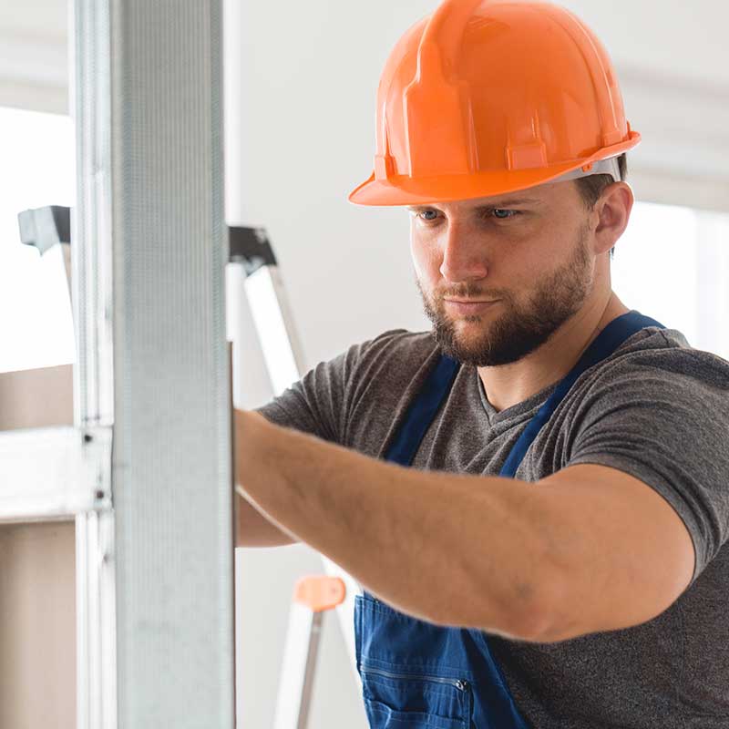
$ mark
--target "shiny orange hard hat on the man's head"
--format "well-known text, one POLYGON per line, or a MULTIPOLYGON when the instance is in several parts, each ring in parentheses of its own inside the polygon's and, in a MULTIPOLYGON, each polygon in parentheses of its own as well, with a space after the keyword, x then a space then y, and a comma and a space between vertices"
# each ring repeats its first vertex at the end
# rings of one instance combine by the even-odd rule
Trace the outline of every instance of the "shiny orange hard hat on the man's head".
POLYGON ((549 3, 446 0, 377 92, 375 171, 349 200, 411 205, 609 172, 641 140, 600 40, 549 3))

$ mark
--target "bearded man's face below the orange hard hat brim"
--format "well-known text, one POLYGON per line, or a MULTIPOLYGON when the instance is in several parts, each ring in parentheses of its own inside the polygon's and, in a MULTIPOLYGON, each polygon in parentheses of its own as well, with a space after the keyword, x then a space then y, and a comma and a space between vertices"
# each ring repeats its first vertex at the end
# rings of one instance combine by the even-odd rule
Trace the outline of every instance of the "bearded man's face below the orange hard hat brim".
POLYGON ((426 314, 460 362, 517 362, 592 292, 588 211, 572 181, 408 210, 426 314))

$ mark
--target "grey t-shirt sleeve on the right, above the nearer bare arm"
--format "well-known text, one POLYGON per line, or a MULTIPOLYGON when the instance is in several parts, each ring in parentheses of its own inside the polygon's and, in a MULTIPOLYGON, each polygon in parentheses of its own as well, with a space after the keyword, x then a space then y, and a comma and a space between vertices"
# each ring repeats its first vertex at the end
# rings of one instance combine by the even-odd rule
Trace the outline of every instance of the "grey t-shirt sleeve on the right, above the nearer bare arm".
POLYGON ((619 468, 661 494, 693 539, 693 584, 729 537, 729 363, 663 353, 627 358, 590 388, 567 466, 619 468))

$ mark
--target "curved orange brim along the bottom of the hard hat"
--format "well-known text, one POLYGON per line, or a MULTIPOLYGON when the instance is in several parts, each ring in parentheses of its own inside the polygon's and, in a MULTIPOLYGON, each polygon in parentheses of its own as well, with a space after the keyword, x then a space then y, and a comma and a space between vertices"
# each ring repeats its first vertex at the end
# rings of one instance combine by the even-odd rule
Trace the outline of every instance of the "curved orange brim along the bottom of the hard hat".
POLYGON ((443 175, 429 178, 411 178, 395 175, 389 180, 376 180, 373 172, 369 180, 355 188, 349 201, 355 205, 426 205, 430 202, 472 200, 527 190, 559 178, 575 169, 615 157, 632 149, 641 141, 641 135, 631 131, 630 139, 611 147, 601 148, 591 157, 572 160, 549 168, 496 169, 470 175, 443 175))

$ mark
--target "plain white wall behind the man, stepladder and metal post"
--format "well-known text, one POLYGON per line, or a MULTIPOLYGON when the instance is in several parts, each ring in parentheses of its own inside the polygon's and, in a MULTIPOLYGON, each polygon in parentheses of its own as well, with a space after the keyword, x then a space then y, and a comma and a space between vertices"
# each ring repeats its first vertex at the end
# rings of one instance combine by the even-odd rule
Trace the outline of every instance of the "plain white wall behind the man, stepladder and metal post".
MULTIPOLYGON (((434 5, 225 0, 227 218, 268 228, 310 364, 387 328, 426 326, 406 213, 355 208, 346 195, 372 169, 385 57, 434 5)), ((631 155, 639 197, 729 210, 728 6, 565 5, 594 27, 618 67, 628 116, 644 138, 631 155)), ((65 43, 64 0, 0 0, 0 104, 64 111, 65 43)), ((238 402, 255 406, 270 391, 245 315, 241 329, 251 355, 238 402)), ((320 565, 303 546, 238 557, 239 717, 258 729, 271 725, 293 582, 320 565)), ((311 725, 364 729, 337 631, 327 621, 311 725)))

